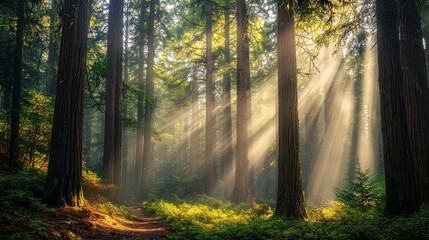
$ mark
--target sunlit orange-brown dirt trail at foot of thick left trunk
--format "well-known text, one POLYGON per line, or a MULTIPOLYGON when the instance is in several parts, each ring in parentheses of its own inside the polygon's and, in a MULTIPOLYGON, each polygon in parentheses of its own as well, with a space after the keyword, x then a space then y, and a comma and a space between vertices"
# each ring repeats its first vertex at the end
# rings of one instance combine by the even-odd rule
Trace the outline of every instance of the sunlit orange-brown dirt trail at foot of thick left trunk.
POLYGON ((139 207, 127 207, 131 216, 108 215, 86 206, 81 209, 65 207, 55 210, 49 222, 57 239, 165 239, 169 233, 159 220, 145 216, 139 207))

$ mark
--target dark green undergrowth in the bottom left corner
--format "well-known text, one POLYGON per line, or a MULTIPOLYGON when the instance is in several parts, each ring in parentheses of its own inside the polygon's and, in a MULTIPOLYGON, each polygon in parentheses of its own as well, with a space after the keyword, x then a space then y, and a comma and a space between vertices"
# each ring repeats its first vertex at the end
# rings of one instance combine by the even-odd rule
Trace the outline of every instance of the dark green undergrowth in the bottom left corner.
POLYGON ((42 204, 45 176, 36 169, 0 175, 0 238, 43 238, 49 226, 43 216, 49 213, 42 204))

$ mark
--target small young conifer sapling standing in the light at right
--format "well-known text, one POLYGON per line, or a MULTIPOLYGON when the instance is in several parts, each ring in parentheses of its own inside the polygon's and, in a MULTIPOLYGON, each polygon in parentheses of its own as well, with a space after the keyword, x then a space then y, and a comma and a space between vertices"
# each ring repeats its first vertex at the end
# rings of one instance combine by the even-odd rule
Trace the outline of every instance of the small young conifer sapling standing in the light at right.
POLYGON ((350 207, 364 211, 381 204, 384 189, 370 169, 363 171, 358 166, 350 186, 338 189, 336 195, 338 200, 350 207))

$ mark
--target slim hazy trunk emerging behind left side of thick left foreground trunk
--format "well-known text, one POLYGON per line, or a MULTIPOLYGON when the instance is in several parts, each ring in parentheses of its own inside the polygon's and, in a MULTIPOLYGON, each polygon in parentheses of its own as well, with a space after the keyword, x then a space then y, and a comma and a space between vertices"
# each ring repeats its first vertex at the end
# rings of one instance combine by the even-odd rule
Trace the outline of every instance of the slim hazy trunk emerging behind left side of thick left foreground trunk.
POLYGON ((57 63, 58 63, 58 0, 51 1, 51 10, 49 13, 49 46, 48 46, 48 74, 46 83, 46 93, 49 96, 55 95, 57 81, 57 63))

